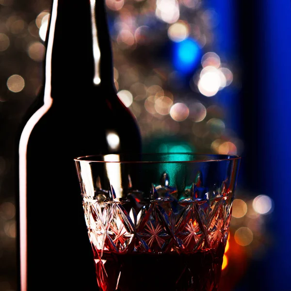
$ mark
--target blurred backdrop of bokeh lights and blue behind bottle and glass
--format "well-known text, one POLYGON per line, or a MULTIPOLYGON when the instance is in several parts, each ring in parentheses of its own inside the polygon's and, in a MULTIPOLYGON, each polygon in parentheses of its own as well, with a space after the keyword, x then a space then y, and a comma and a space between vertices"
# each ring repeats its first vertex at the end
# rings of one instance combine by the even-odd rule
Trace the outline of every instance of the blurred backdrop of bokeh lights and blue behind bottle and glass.
MULTIPOLYGON (((221 291, 291 291, 290 1, 106 4, 115 86, 145 150, 242 156, 221 291)), ((50 7, 0 0, 0 291, 16 291, 15 137, 50 7)))

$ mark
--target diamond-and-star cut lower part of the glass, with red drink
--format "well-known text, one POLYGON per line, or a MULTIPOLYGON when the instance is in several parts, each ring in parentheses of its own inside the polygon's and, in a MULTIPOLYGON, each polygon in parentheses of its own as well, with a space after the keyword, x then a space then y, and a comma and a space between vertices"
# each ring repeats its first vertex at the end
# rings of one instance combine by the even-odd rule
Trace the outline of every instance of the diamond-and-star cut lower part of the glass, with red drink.
MULTIPOLYGON (((167 174, 163 174, 160 181, 158 185, 152 184, 148 196, 132 189, 130 177, 130 188, 124 199, 116 198, 112 185, 109 191, 98 189, 94 198, 83 194, 97 281, 103 291, 129 290, 119 289, 124 284, 126 268, 133 270, 132 264, 137 258, 139 262, 146 258, 134 254, 158 256, 152 258, 157 258, 157 266, 164 259, 162 268, 171 262, 180 266, 178 274, 173 276, 172 285, 176 289, 167 290, 217 290, 230 222, 232 190, 226 185, 227 181, 208 189, 203 186, 200 172, 183 191, 170 185, 167 174), (131 256, 129 262, 125 254, 131 256), (167 261, 163 257, 165 254, 172 259, 167 261), (198 262, 197 265, 192 261, 198 262)), ((143 284, 145 287, 139 286, 139 290, 146 288, 147 283, 143 284)), ((163 290, 165 286, 159 288, 163 290)))

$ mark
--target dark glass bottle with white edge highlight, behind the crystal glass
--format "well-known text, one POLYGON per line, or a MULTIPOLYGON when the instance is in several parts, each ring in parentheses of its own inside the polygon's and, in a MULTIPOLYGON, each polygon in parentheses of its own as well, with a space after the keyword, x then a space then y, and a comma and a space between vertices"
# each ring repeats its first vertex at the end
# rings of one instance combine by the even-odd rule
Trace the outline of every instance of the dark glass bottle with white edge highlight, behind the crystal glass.
POLYGON ((52 2, 43 87, 18 142, 21 291, 98 290, 73 159, 141 152, 136 119, 113 83, 104 2, 52 2))

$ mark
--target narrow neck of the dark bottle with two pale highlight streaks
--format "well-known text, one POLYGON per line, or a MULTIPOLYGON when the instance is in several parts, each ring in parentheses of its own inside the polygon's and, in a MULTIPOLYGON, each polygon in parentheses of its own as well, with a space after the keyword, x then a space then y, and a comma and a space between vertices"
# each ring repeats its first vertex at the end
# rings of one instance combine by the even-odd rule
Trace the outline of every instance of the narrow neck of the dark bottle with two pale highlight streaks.
POLYGON ((53 0, 45 62, 45 86, 51 88, 53 99, 59 98, 60 91, 113 86, 111 38, 104 2, 53 0))

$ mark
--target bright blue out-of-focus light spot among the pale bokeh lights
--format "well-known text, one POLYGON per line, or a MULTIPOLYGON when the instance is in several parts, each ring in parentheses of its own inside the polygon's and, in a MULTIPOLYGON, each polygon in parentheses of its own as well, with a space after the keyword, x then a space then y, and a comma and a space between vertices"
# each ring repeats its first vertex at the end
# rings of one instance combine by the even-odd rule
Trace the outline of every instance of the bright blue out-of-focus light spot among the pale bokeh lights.
POLYGON ((173 64, 179 72, 190 73, 201 58, 201 48, 192 38, 174 44, 173 64))

